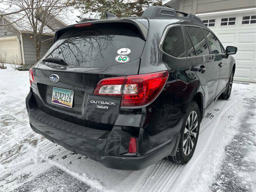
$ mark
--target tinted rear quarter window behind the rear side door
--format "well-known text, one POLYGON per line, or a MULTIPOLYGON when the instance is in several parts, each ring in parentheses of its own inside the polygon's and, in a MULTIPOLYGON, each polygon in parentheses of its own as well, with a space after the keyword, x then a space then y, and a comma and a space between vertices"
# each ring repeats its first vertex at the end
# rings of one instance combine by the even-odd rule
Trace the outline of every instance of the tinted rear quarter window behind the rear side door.
POLYGON ((181 27, 172 27, 168 30, 162 49, 174 57, 185 57, 184 38, 181 27))

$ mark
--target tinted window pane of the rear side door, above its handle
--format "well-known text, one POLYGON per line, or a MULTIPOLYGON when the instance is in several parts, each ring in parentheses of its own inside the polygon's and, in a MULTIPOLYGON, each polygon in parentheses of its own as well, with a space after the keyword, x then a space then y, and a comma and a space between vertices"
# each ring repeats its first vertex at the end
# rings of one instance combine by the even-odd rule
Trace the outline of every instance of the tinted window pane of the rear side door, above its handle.
POLYGON ((208 55, 210 54, 209 48, 207 46, 204 34, 198 27, 186 27, 192 44, 194 45, 196 55, 208 55))

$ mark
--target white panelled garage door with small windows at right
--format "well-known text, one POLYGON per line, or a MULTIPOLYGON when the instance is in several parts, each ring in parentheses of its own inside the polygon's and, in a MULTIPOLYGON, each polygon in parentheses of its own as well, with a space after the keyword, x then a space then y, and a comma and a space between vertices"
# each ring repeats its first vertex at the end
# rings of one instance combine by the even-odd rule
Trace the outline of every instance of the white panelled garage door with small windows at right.
POLYGON ((238 47, 234 80, 256 82, 255 9, 198 15, 226 46, 238 47))

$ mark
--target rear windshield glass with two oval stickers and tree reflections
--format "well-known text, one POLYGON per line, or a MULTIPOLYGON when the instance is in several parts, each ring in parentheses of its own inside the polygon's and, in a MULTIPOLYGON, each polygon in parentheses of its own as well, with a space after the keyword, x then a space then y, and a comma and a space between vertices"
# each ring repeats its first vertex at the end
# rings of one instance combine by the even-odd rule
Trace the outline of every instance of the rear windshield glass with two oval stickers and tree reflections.
POLYGON ((138 30, 130 24, 94 25, 62 34, 43 59, 60 58, 69 67, 113 66, 138 60, 144 44, 138 30))

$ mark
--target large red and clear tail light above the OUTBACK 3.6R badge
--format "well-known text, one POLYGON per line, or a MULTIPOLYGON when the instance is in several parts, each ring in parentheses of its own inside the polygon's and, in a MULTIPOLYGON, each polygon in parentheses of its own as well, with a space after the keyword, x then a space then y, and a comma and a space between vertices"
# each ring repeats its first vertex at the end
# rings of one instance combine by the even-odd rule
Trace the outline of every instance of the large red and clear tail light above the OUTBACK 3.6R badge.
POLYGON ((167 78, 167 71, 106 78, 98 83, 94 95, 122 96, 121 106, 141 106, 156 98, 167 78))

